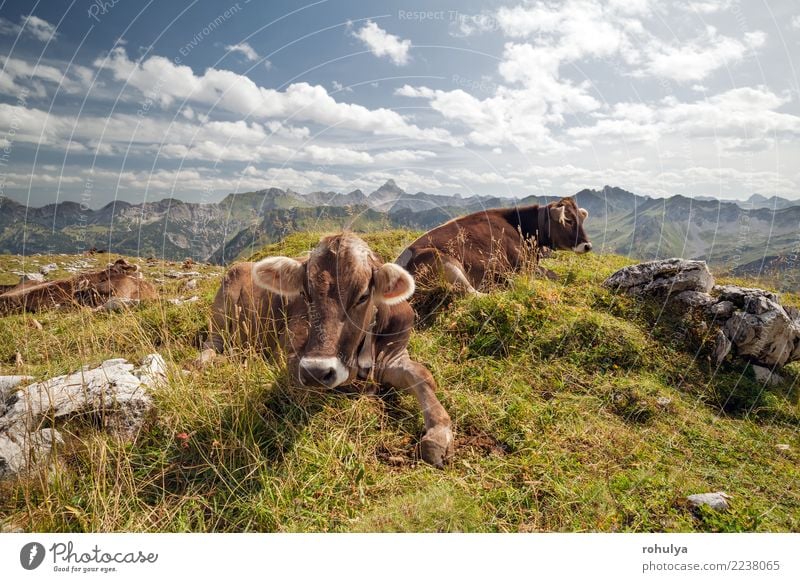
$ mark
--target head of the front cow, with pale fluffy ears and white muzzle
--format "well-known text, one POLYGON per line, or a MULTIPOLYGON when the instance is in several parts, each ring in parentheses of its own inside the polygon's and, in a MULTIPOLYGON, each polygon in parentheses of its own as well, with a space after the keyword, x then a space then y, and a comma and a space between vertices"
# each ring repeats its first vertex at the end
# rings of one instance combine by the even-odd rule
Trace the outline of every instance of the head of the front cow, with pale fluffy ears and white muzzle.
POLYGON ((383 264, 367 244, 345 233, 329 236, 306 261, 269 257, 253 265, 253 281, 287 298, 302 296, 309 335, 299 361, 306 386, 334 388, 357 370, 357 354, 376 305, 395 305, 414 293, 414 279, 383 264))

